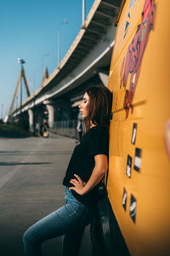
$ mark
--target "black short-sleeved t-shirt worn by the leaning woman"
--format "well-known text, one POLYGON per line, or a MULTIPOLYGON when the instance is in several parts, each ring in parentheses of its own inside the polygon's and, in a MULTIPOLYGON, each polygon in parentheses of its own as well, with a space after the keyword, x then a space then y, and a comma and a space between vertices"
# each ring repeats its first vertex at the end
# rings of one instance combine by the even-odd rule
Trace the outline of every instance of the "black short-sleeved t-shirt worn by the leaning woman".
MULTIPOLYGON (((76 178, 77 174, 82 178, 83 182, 88 182, 91 176, 95 161, 94 156, 97 154, 109 154, 109 131, 105 127, 94 126, 82 137, 80 143, 74 148, 69 166, 65 173, 63 184, 66 187, 72 187, 71 178, 76 178)), ((78 201, 91 207, 97 202, 97 186, 92 189, 87 195, 79 195, 76 191, 71 190, 72 194, 78 201)))

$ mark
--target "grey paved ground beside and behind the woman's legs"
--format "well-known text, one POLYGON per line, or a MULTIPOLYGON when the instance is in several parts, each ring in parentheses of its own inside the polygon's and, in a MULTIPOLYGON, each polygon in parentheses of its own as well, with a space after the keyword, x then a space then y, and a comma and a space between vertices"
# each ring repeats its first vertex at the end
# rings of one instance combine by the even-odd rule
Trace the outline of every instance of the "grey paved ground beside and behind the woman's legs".
MULTIPOLYGON (((61 185, 75 140, 0 138, 0 255, 23 255, 22 235, 38 219, 64 204, 61 185)), ((43 256, 60 256, 61 237, 42 244, 43 256)), ((86 229, 81 256, 91 252, 86 229)))

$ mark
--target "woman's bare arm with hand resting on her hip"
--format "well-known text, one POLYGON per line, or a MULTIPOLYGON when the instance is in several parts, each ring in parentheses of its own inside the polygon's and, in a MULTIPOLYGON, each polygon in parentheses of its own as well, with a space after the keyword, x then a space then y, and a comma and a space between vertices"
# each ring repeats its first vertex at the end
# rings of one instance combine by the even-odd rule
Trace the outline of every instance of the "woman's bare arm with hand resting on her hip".
POLYGON ((75 174, 75 177, 71 179, 70 183, 74 185, 70 189, 75 190, 79 195, 88 194, 91 189, 100 182, 100 180, 104 177, 105 173, 107 172, 108 163, 107 163, 107 156, 105 154, 98 154, 94 156, 95 166, 94 170, 88 179, 88 183, 84 183, 82 179, 75 174))

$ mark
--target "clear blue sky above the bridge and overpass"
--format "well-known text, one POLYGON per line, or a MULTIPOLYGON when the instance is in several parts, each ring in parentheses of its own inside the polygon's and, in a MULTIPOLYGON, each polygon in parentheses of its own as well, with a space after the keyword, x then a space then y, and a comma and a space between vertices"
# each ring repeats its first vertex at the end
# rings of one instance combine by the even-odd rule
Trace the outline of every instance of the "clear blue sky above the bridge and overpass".
MULTIPOLYGON (((86 17, 94 0, 86 0, 86 17)), ((57 67, 57 32, 61 26, 60 58, 65 56, 82 25, 82 0, 6 0, 0 9, 0 119, 8 114, 20 74, 18 58, 26 61, 26 78, 33 92, 42 81, 44 67, 53 73, 57 67), (44 56, 47 55, 48 56, 44 56), (3 108, 2 108, 3 104, 3 108)), ((20 103, 20 94, 18 95, 20 103)), ((24 92, 24 99, 26 93, 24 92)), ((23 99, 23 100, 24 100, 23 99)), ((16 103, 15 103, 16 104, 16 103)))

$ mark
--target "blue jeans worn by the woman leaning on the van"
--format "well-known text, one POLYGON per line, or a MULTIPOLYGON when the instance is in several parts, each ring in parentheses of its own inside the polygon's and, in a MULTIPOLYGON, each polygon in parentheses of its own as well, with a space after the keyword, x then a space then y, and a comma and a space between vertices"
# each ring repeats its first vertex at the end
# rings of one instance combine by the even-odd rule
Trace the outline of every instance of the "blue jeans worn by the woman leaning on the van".
POLYGON ((65 189, 65 206, 33 224, 23 236, 26 256, 40 256, 41 243, 56 236, 63 236, 63 256, 78 256, 82 235, 95 215, 93 208, 86 207, 65 189))

